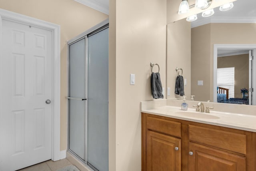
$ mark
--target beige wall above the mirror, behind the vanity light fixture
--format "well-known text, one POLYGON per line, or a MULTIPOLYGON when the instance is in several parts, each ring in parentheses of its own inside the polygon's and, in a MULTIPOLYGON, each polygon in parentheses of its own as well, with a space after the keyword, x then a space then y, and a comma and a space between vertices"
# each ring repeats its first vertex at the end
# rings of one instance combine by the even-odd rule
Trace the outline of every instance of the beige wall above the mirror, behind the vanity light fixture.
MULTIPOLYGON (((234 2, 236 0, 212 0, 212 4, 206 9, 210 10, 212 8, 221 6, 223 4, 227 4, 229 2, 234 2)), ((197 8, 190 8, 190 11, 186 14, 178 14, 179 6, 181 0, 167 0, 167 24, 171 22, 178 21, 182 18, 187 18, 188 16, 192 16, 193 14, 198 14, 200 12, 204 12, 206 10, 199 10, 197 8)), ((189 6, 194 5, 196 0, 188 0, 189 6)))

